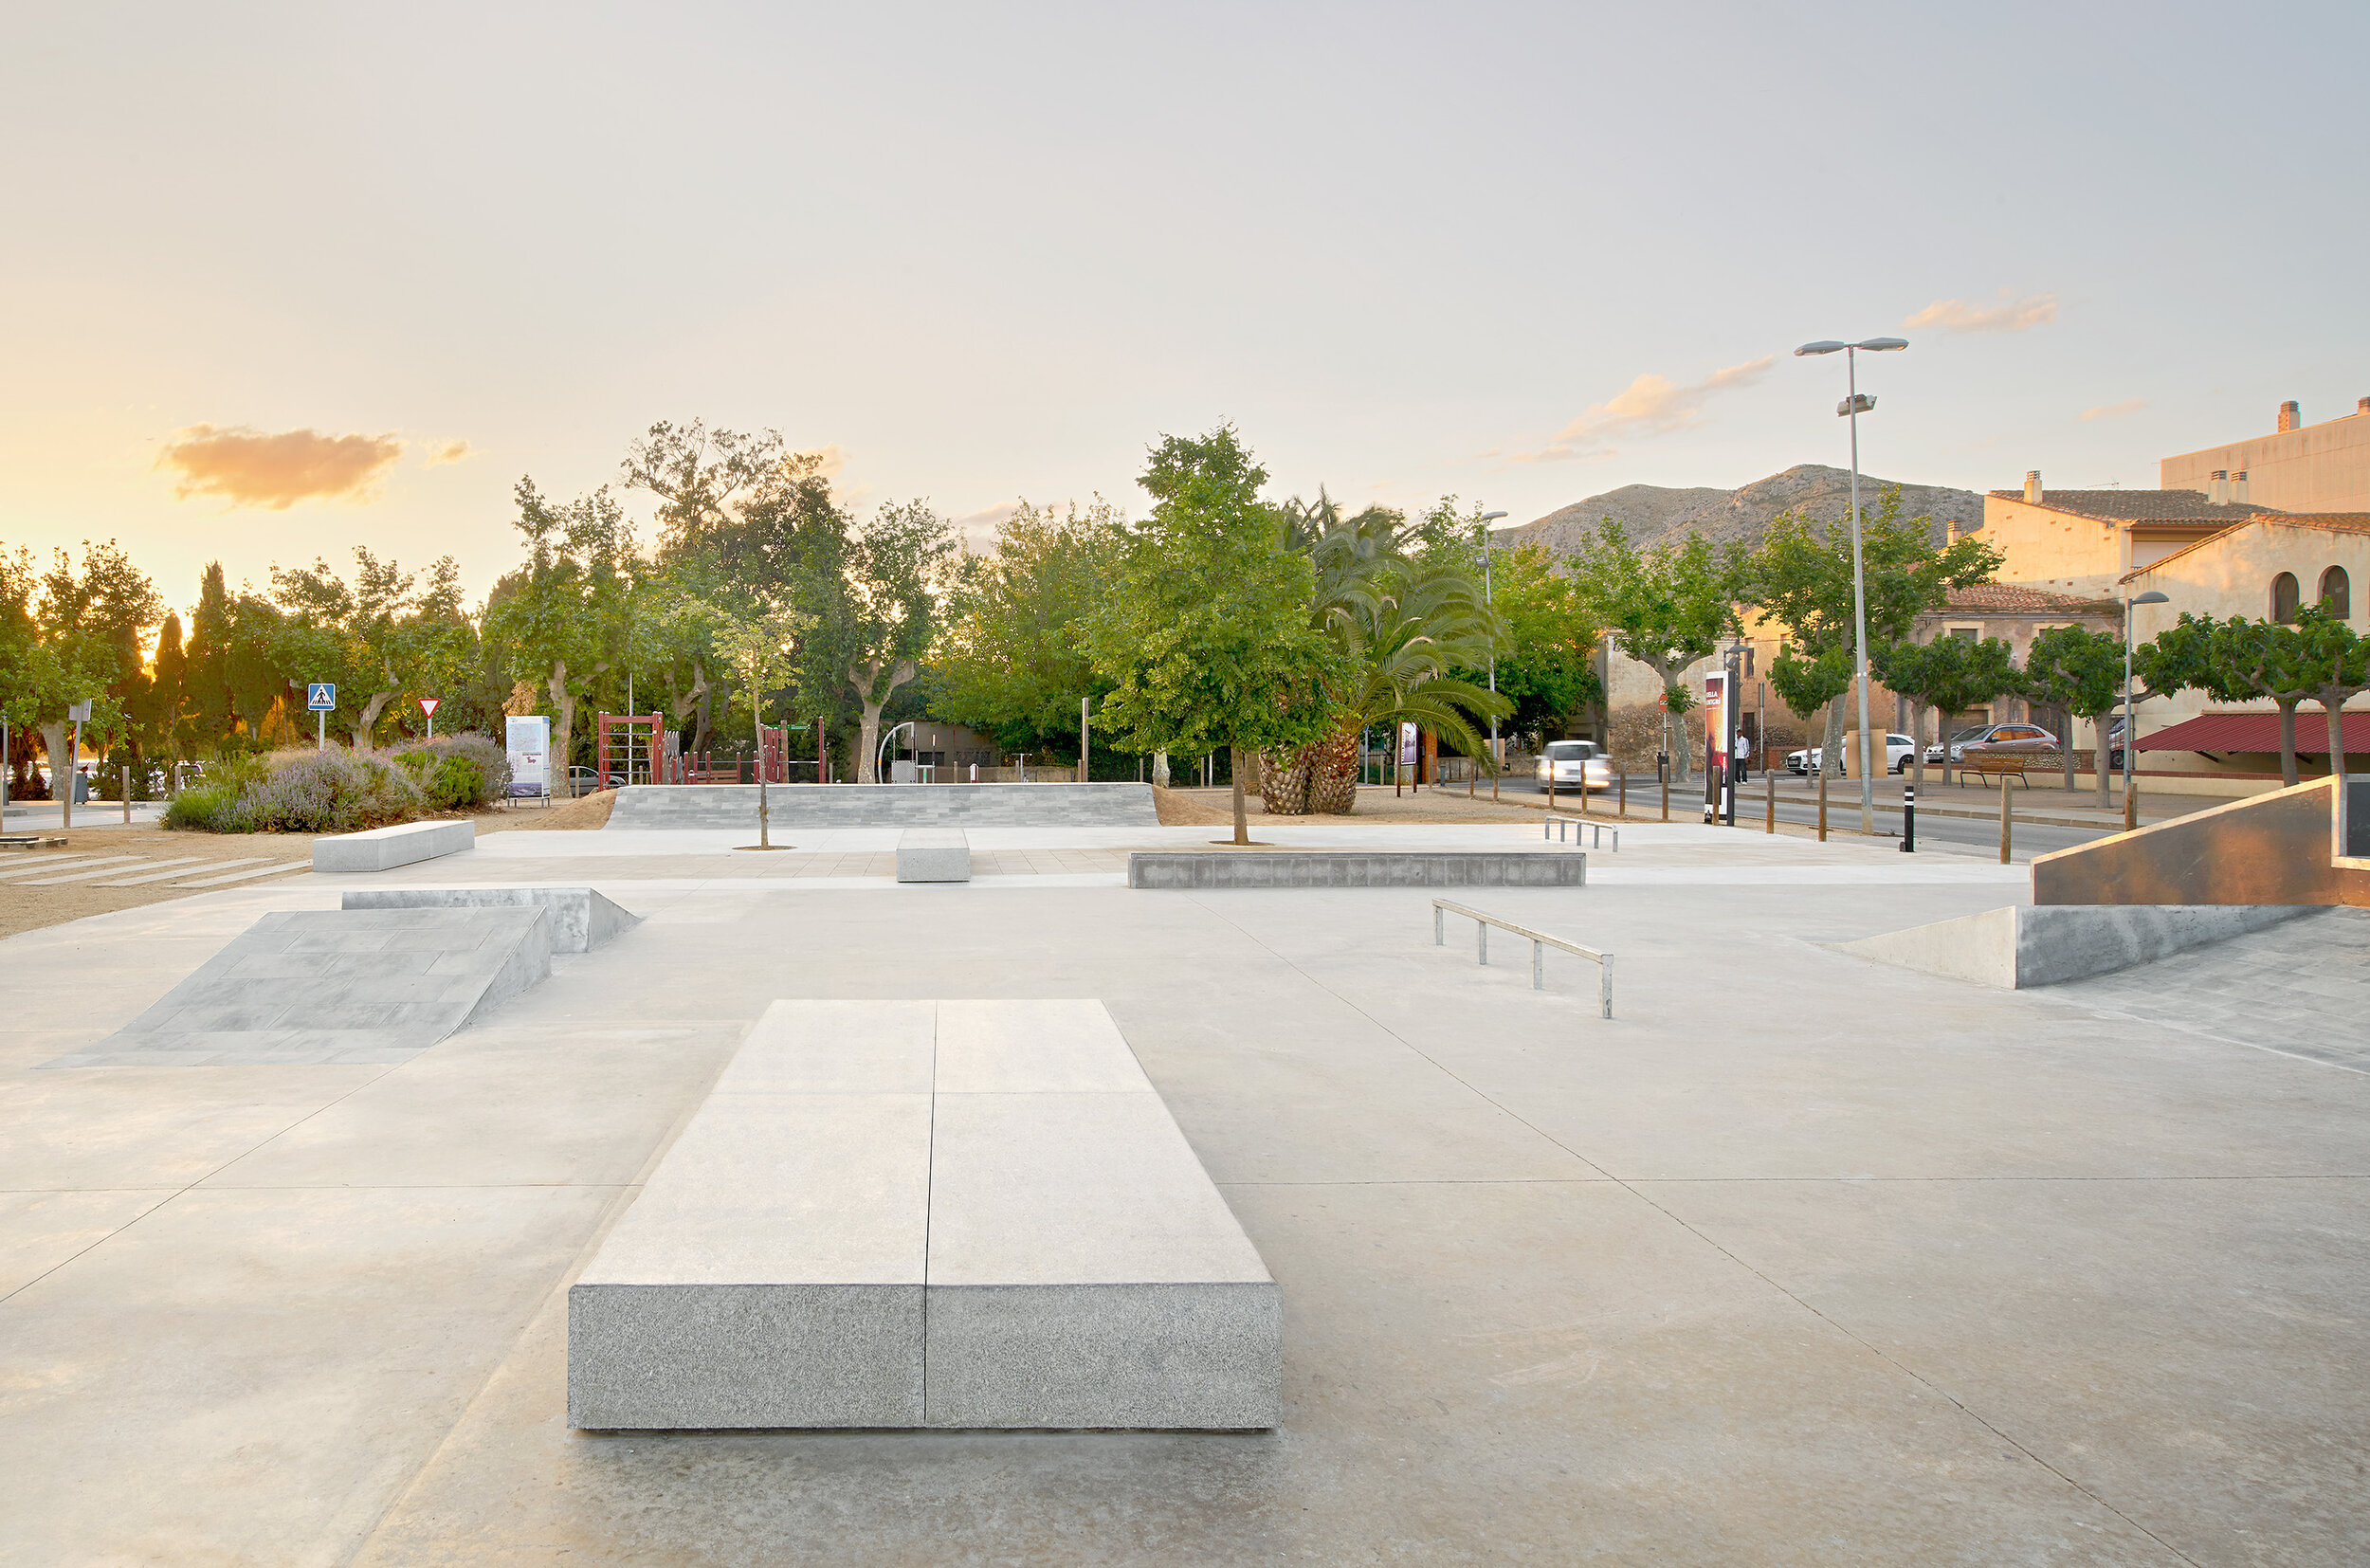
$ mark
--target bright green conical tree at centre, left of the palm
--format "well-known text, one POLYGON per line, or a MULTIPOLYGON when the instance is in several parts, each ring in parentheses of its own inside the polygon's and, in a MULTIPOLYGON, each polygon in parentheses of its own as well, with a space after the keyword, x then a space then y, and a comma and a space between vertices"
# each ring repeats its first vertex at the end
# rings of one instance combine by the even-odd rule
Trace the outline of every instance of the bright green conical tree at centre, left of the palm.
POLYGON ((1138 751, 1235 751, 1235 843, 1251 841, 1244 763, 1325 734, 1339 661, 1308 613, 1315 564, 1258 497, 1266 481, 1232 426, 1164 436, 1138 478, 1152 516, 1088 621, 1114 737, 1138 751))

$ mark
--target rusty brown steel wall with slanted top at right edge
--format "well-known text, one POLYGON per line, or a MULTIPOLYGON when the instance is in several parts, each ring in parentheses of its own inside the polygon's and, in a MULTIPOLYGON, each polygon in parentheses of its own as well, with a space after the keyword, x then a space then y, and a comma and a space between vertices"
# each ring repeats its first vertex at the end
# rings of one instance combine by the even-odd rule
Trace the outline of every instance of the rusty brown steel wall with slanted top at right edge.
POLYGON ((2033 860, 2036 905, 2370 905, 2339 867, 2334 793, 2313 779, 2033 860))

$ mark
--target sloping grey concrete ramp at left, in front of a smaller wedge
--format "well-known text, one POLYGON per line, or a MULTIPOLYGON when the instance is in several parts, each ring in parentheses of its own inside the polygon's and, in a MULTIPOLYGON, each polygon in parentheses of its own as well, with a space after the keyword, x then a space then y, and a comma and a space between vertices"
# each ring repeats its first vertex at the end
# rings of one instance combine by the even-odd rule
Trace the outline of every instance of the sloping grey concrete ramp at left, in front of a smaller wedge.
POLYGON ((47 1066, 410 1061, 550 973, 543 907, 277 912, 47 1066))

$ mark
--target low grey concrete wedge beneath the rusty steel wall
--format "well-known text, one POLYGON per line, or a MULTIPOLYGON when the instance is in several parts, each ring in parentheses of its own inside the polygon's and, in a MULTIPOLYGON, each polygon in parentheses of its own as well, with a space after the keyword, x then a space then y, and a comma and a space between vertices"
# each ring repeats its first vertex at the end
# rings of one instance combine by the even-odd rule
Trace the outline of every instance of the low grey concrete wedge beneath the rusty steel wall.
POLYGON ((1834 943, 1879 964, 2029 990, 2223 943, 2311 914, 2315 905, 2014 905, 1932 926, 1834 943))

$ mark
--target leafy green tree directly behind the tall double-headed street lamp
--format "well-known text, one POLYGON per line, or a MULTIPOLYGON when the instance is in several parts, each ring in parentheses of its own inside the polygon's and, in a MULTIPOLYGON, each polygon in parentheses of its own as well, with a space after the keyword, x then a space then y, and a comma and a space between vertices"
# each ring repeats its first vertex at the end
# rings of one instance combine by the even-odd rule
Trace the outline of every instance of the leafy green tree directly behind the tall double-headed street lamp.
MULTIPOLYGON (((1998 568, 2000 552, 1974 535, 1936 550, 1934 519, 1901 516, 1901 488, 1889 486, 1877 512, 1860 514, 1860 587, 1868 604, 1870 661, 1882 647, 1910 642, 1917 616, 1941 609, 1953 587, 1988 583, 1998 568)), ((1804 658, 1823 661, 1832 649, 1841 649, 1846 668, 1856 663, 1849 516, 1820 523, 1785 512, 1770 519, 1761 550, 1742 576, 1744 597, 1787 628, 1804 658)), ((1806 708, 1794 711, 1806 713, 1806 708)), ((1823 767, 1841 756, 1841 744, 1844 703, 1830 701, 1823 767)), ((1870 746, 1877 744, 1877 737, 1870 737, 1870 746)), ((1882 751, 1870 760, 1882 760, 1882 751)))

